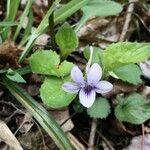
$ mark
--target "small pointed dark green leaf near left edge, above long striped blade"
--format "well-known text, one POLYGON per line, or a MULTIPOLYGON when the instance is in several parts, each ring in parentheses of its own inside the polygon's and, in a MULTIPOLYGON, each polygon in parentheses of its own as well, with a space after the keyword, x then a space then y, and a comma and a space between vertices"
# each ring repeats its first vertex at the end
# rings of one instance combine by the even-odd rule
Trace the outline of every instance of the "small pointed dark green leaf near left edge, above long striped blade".
POLYGON ((21 77, 21 75, 16 71, 13 71, 12 69, 8 69, 6 77, 14 82, 26 83, 26 81, 21 77))

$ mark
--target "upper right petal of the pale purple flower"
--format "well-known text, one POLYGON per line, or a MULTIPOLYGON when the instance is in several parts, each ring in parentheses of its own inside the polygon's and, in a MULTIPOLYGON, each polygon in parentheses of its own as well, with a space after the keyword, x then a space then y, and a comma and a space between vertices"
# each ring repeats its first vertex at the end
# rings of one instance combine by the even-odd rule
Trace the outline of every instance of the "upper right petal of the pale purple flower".
POLYGON ((102 68, 99 64, 93 64, 87 73, 88 85, 96 85, 102 77, 102 68))

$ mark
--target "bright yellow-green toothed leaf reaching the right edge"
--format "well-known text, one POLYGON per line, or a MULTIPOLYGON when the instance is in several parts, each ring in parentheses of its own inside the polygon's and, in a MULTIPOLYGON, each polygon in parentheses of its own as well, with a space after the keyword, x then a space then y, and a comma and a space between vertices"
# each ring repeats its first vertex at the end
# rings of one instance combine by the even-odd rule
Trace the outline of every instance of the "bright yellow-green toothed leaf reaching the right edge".
POLYGON ((105 71, 130 64, 139 63, 150 57, 150 44, 120 42, 108 46, 103 53, 103 65, 105 71))

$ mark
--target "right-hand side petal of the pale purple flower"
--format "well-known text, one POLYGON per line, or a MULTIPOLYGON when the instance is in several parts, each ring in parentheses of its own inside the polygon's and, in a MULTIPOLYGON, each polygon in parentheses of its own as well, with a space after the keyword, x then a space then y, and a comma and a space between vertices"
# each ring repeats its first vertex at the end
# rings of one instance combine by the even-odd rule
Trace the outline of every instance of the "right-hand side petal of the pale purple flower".
POLYGON ((108 81, 99 81, 95 88, 97 93, 104 94, 110 92, 113 89, 113 85, 108 81))

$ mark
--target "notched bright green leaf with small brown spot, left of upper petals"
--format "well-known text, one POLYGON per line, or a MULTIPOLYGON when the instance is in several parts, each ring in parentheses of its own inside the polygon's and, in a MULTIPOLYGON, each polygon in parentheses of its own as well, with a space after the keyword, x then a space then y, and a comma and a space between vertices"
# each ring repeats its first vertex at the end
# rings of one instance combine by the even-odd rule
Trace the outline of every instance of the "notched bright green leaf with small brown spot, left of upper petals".
POLYGON ((73 63, 63 61, 60 64, 59 55, 54 51, 36 51, 29 58, 29 64, 34 73, 63 77, 70 74, 73 63))

